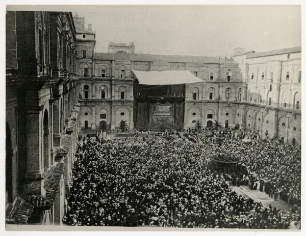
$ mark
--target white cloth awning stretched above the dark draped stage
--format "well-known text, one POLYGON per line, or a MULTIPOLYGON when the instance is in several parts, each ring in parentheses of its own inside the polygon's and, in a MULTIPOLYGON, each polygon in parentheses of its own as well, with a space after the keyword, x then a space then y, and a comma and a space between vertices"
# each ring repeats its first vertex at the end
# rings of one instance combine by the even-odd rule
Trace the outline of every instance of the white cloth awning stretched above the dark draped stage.
POLYGON ((203 80, 190 71, 133 71, 140 84, 166 85, 197 83, 203 80))

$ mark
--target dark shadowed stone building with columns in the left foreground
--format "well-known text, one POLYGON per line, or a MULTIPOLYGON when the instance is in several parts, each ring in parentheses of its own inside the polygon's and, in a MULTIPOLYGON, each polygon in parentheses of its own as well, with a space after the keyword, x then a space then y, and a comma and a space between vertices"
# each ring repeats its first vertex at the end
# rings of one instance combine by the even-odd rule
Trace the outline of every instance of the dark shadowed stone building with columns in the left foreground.
POLYGON ((69 12, 6 15, 6 223, 61 224, 78 133, 69 12))

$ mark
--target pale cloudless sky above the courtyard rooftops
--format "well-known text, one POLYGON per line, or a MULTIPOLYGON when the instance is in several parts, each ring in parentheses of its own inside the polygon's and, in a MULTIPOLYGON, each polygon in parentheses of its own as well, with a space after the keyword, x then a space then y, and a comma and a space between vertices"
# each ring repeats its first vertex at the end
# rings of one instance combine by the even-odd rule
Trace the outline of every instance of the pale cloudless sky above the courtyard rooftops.
POLYGON ((236 47, 266 51, 301 45, 300 6, 83 6, 96 31, 95 52, 110 41, 135 52, 219 56, 236 47))

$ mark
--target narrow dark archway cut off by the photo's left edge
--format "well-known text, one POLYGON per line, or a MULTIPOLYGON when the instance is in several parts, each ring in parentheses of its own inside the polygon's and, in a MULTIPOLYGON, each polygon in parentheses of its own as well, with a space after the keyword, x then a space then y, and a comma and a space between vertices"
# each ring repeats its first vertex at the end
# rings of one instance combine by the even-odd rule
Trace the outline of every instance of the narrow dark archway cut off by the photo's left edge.
POLYGON ((12 137, 8 123, 5 124, 5 193, 6 204, 13 201, 13 162, 12 162, 12 137))

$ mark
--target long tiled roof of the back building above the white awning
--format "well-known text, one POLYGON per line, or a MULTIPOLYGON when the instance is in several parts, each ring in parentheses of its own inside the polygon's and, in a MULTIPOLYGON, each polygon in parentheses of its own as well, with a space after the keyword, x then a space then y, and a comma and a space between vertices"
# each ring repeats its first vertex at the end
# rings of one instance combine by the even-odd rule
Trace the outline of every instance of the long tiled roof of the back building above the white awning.
POLYGON ((155 55, 129 53, 94 53, 95 60, 121 60, 134 62, 173 62, 173 63, 215 63, 237 64, 235 61, 224 60, 213 56, 155 55))

